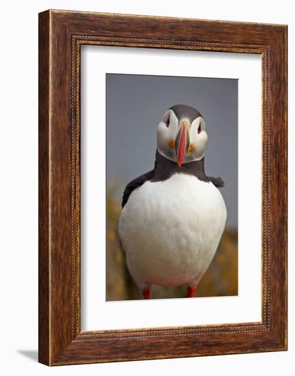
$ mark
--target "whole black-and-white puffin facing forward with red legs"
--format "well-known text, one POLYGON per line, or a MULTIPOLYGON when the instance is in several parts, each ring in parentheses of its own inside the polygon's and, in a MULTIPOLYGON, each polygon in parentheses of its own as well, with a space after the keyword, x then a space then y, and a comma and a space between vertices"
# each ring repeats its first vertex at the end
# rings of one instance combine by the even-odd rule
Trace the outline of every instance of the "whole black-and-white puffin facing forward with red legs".
POLYGON ((187 297, 207 271, 225 230, 222 178, 205 174, 201 113, 173 105, 157 125, 153 170, 125 187, 118 236, 144 299, 151 286, 186 285, 187 297))

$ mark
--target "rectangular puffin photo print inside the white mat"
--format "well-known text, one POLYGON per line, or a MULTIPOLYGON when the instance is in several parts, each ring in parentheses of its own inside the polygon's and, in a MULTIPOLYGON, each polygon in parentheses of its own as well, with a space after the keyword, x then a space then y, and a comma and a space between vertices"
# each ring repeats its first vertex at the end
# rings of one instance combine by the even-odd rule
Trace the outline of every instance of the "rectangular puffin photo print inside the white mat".
POLYGON ((105 83, 106 299, 238 295, 238 79, 105 83))

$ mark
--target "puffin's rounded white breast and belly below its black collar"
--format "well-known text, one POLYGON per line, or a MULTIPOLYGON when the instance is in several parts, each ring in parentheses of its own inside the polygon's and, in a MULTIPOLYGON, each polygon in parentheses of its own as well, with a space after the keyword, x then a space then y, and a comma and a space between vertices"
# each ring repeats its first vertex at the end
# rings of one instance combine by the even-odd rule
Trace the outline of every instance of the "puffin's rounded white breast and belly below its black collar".
POLYGON ((187 174, 144 183, 129 196, 119 222, 131 276, 140 286, 197 283, 226 218, 225 202, 212 183, 187 174))

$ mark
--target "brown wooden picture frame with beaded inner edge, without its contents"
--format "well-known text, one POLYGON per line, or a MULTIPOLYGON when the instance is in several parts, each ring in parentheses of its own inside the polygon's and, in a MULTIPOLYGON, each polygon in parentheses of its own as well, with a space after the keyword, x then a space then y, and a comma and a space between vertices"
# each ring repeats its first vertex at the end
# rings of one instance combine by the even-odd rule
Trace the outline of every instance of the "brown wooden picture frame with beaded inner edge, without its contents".
POLYGON ((48 10, 39 14, 39 362, 287 349, 287 26, 48 10), (80 47, 262 57, 262 321, 81 332, 80 47))

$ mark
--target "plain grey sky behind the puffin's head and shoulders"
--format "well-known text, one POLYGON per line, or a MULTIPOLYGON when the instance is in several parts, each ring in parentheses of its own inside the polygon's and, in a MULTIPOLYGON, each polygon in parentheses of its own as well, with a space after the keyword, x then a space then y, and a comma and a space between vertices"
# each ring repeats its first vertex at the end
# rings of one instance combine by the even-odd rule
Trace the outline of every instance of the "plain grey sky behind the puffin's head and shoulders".
POLYGON ((238 227, 238 80, 107 74, 107 186, 127 183, 153 168, 156 129, 179 103, 202 113, 208 142, 205 172, 221 176, 227 226, 238 227))

